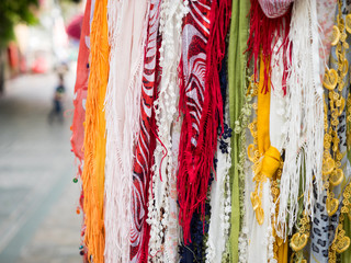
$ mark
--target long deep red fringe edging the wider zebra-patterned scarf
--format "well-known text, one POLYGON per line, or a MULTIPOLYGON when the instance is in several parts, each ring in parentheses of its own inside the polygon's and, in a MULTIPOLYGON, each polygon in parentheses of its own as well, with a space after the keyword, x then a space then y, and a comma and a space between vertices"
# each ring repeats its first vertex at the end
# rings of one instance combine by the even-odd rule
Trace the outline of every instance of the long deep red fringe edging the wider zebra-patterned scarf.
MULTIPOLYGON (((183 227, 184 243, 191 241, 190 224, 196 209, 205 213, 208 179, 213 169, 213 158, 217 147, 217 128, 223 127, 223 101, 219 85, 219 69, 225 55, 225 38, 231 14, 231 1, 213 1, 210 14, 210 37, 206 45, 206 72, 204 104, 199 127, 199 139, 195 148, 191 145, 192 123, 186 108, 184 81, 180 84, 180 111, 185 114, 183 122, 180 155, 178 193, 180 205, 180 224, 183 227)), ((188 59, 188 58, 183 58, 188 59)), ((183 72, 182 62, 180 70, 183 72)), ((180 76, 183 80, 184 76, 180 76)))

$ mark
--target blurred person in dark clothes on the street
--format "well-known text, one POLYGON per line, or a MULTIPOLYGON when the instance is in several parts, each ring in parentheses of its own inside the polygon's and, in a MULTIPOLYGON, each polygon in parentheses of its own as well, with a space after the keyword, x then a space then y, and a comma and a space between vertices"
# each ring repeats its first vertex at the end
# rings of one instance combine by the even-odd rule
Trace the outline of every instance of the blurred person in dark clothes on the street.
POLYGON ((54 104, 53 104, 53 110, 48 114, 48 123, 52 124, 55 118, 58 119, 59 123, 64 123, 64 99, 65 99, 65 81, 64 81, 64 75, 59 73, 59 84, 55 89, 55 94, 54 94, 54 104))

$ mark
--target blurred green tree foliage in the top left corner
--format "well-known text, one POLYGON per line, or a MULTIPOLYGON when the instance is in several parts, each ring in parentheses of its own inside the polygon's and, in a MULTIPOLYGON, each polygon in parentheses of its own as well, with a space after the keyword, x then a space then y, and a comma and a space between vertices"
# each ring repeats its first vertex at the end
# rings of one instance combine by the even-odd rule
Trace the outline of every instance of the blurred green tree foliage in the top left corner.
POLYGON ((13 27, 18 23, 36 23, 35 10, 38 0, 0 0, 0 48, 14 38, 13 27))

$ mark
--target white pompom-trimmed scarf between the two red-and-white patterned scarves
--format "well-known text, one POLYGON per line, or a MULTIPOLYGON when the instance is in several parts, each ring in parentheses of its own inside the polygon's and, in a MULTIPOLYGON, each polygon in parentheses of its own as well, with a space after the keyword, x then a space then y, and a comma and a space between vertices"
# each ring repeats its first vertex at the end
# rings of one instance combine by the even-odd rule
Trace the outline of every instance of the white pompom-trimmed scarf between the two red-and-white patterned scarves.
POLYGON ((177 122, 179 87, 174 72, 177 72, 181 56, 180 36, 184 14, 185 8, 182 0, 176 2, 163 0, 161 2, 159 32, 162 43, 159 53, 162 78, 154 105, 158 140, 154 153, 152 188, 149 196, 147 219, 151 237, 149 240, 150 262, 177 262, 178 259, 177 195, 174 196, 172 193, 177 188, 178 137, 180 135, 177 129, 180 121, 177 122))

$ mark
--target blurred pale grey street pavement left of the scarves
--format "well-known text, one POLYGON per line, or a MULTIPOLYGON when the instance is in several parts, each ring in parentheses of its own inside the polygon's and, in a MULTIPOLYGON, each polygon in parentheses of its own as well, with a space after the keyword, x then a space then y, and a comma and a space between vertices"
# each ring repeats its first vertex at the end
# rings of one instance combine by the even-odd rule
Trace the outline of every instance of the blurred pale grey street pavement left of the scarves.
MULTIPOLYGON (((65 78, 72 110, 75 73, 65 78)), ((47 122, 58 78, 24 75, 0 98, 0 263, 78 263, 80 185, 70 151, 70 112, 47 122)))

